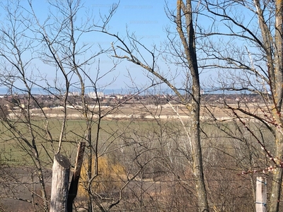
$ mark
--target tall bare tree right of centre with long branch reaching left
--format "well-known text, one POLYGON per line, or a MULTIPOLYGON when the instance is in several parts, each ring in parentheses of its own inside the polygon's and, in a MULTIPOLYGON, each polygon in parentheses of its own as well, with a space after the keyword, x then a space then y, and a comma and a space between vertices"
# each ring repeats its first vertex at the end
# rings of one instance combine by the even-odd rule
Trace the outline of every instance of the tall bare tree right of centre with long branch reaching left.
MULTIPOLYGON (((163 73, 160 72, 156 65, 157 56, 154 50, 149 50, 145 47, 134 35, 128 35, 129 44, 118 35, 112 34, 108 31, 102 30, 103 33, 107 33, 115 38, 117 42, 120 42, 122 46, 112 46, 115 52, 114 57, 119 59, 127 59, 128 61, 141 66, 149 73, 153 74, 158 81, 165 83, 168 88, 171 88, 175 95, 178 96, 180 102, 185 105, 188 114, 191 114, 191 122, 187 133, 187 155, 190 158, 192 165, 192 172, 195 180, 195 189, 197 192, 199 211, 209 211, 207 192, 204 182, 204 174, 202 168, 202 146, 200 139, 200 73, 197 64, 197 52, 195 46, 195 30, 193 22, 193 11, 195 8, 192 6, 192 1, 176 1, 174 11, 168 10, 168 16, 173 21, 175 28, 179 35, 179 41, 181 42, 180 49, 174 49, 172 52, 177 55, 178 60, 183 61, 185 67, 185 78, 190 78, 186 83, 192 81, 190 86, 185 88, 178 88, 173 80, 167 79, 163 73), (152 61, 145 61, 141 48, 145 49, 146 52, 151 54, 152 61), (122 50, 125 56, 117 53, 117 49, 122 50), (178 52, 180 51, 180 52, 178 52), (137 57, 139 55, 140 57, 137 57), (181 90, 184 90, 186 95, 183 95, 181 90), (190 96, 190 98, 186 98, 190 96)), ((171 42, 171 40, 170 40, 171 42)), ((178 41, 177 41, 178 42, 178 41)), ((116 43, 115 43, 116 45, 116 43)), ((172 56, 171 55, 171 56, 172 56)), ((184 83, 185 84, 185 83, 184 83)))

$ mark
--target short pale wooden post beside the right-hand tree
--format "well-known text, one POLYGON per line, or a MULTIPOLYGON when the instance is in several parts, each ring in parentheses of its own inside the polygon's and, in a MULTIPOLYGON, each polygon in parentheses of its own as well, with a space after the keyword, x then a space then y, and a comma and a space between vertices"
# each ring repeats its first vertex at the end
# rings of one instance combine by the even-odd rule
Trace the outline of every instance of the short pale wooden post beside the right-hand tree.
POLYGON ((266 178, 257 177, 256 180, 256 192, 255 192, 255 211, 256 212, 266 212, 266 178))

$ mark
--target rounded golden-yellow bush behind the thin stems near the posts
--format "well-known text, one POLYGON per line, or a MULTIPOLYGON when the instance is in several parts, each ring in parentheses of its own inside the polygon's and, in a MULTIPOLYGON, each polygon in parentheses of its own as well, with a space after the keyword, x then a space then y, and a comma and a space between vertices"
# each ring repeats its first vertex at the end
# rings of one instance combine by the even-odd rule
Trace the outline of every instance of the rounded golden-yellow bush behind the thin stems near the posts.
MULTIPOLYGON (((122 165, 108 160, 107 157, 100 157, 98 158, 98 176, 91 182, 91 189, 96 194, 111 194, 122 187, 123 179, 125 179, 125 169, 122 165)), ((87 161, 85 160, 81 168, 78 196, 88 194, 87 185, 87 161)))

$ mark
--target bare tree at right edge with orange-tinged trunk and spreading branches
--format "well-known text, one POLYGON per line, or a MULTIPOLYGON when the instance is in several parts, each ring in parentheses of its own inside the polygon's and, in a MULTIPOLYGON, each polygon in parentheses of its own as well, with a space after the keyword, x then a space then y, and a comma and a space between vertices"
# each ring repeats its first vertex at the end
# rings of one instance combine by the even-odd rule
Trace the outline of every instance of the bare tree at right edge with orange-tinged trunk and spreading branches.
POLYGON ((272 169, 269 211, 279 211, 283 156, 282 1, 204 2, 210 25, 200 32, 203 37, 201 51, 207 59, 203 67, 224 70, 217 79, 221 82, 221 90, 246 91, 261 97, 250 105, 244 101, 237 107, 224 104, 243 125, 246 126, 244 117, 249 116, 272 131, 272 147, 267 149, 255 132, 247 128, 271 159, 271 167, 276 167, 272 169), (251 105, 258 109, 252 110, 251 105))

